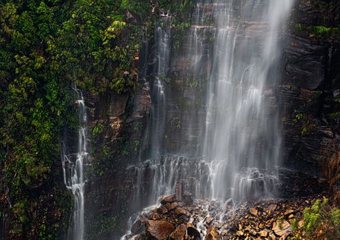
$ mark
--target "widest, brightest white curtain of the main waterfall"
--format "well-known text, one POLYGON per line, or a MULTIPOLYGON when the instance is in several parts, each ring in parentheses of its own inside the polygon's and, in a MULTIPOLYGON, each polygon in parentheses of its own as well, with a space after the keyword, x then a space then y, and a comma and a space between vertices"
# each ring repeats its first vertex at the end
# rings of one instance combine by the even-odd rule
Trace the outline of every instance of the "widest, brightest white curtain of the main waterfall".
POLYGON ((215 198, 267 195, 274 187, 281 139, 278 110, 271 107, 290 7, 289 0, 213 3, 204 156, 213 163, 215 198))

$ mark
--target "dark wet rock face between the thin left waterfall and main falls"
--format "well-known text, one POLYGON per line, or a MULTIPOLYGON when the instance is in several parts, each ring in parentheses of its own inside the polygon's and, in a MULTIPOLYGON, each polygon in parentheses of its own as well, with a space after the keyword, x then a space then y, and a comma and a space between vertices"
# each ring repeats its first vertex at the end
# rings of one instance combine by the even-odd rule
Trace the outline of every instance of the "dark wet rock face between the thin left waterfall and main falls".
MULTIPOLYGON (((89 239, 114 239, 121 236, 121 228, 134 205, 134 172, 127 169, 138 160, 145 122, 151 108, 149 83, 138 80, 140 88, 134 96, 117 95, 108 91, 104 95, 85 95, 89 117, 90 163, 86 165, 86 234, 89 239), (97 236, 102 221, 110 221, 107 234, 97 236)), ((143 226, 144 227, 144 226, 143 226)), ((142 226, 134 226, 136 232, 142 226)))

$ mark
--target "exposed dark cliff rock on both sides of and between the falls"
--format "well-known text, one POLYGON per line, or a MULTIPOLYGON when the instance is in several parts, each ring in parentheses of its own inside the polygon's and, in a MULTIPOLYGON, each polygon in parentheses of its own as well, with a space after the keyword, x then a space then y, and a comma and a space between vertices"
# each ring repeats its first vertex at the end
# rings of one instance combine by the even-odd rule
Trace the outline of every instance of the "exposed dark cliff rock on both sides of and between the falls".
MULTIPOLYGON (((340 3, 337 1, 295 2, 289 27, 284 29, 282 79, 278 88, 269 93, 267 104, 273 109, 280 109, 284 164, 293 170, 308 171, 306 175, 321 173, 321 165, 337 152, 340 144, 339 13, 340 3)), ((209 52, 212 51, 210 41, 213 40, 210 29, 204 31, 203 44, 199 46, 202 62, 197 75, 189 75, 188 71, 195 58, 192 56, 191 39, 180 38, 182 47, 171 51, 167 69, 169 80, 165 81, 167 128, 162 139, 162 149, 169 154, 202 154, 199 149, 204 129, 200 126, 206 116, 206 77, 211 67, 209 52)), ((253 30, 250 28, 249 31, 253 30)), ((172 41, 171 45, 175 45, 175 39, 172 41)), ((155 45, 151 40, 141 53, 141 87, 135 95, 86 95, 93 133, 92 173, 88 176, 86 189, 86 202, 90 207, 86 220, 88 236, 93 239, 95 236, 101 239, 118 236, 125 228, 127 217, 144 204, 143 201, 134 202, 138 176, 133 168, 127 167, 147 156, 147 136, 152 134, 152 127, 147 130, 147 123, 148 120, 150 122, 151 103, 156 102, 150 90, 158 64, 155 45), (149 134, 146 134, 147 131, 149 134), (101 229, 103 221, 109 221, 110 228, 101 229), (96 235, 101 230, 102 234, 96 235)), ((152 174, 150 171, 149 178, 152 174)), ((291 180, 296 178, 299 176, 292 174, 291 180)), ((284 179, 287 180, 287 176, 284 179)), ((145 186, 151 182, 144 181, 145 186)), ((290 181, 287 182, 289 184, 290 181)), ((147 198, 148 192, 144 194, 147 198)))

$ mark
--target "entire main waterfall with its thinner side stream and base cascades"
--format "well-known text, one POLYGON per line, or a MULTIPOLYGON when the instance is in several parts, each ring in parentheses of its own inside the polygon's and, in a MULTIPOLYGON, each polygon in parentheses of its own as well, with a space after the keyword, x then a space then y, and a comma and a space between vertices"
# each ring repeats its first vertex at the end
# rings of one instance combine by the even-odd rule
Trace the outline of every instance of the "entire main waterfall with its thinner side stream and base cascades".
MULTIPOLYGON (((149 122, 150 154, 141 165, 130 168, 137 179, 137 199, 145 206, 156 204, 161 195, 175 193, 181 181, 198 202, 213 200, 221 208, 226 202, 237 205, 249 198, 275 196, 281 143, 275 95, 282 67, 282 28, 292 2, 197 1, 192 25, 183 40, 190 51, 181 51, 180 57, 169 50, 170 25, 156 29, 158 65, 151 87, 154 116, 149 122), (181 57, 189 62, 190 67, 182 73, 188 81, 201 79, 202 84, 206 80, 205 95, 191 96, 204 99, 206 117, 205 122, 199 121, 202 108, 189 106, 182 112, 182 135, 187 135, 189 145, 198 147, 193 152, 180 147, 173 156, 162 149, 169 112, 165 80, 175 61, 169 58, 181 57), (203 134, 197 134, 195 124, 203 134)), ((207 203, 202 204, 210 215, 207 203)), ((140 215, 150 209, 145 208, 140 215)), ((222 212, 214 215, 223 219, 222 212)), ((138 214, 130 218, 130 226, 135 219, 138 214)), ((200 228, 199 222, 197 225, 200 228)), ((202 225, 199 230, 204 239, 206 228, 202 225)), ((134 235, 129 231, 121 239, 134 239, 134 235)))

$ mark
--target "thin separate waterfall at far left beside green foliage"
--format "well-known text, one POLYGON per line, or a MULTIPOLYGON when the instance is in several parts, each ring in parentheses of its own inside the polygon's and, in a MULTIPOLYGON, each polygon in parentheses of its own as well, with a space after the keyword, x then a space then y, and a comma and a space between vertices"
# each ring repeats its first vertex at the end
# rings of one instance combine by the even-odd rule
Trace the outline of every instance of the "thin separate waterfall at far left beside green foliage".
POLYGON ((84 163, 88 158, 87 149, 87 115, 84 96, 80 89, 75 87, 80 96, 76 103, 78 106, 79 129, 77 132, 77 149, 70 153, 71 146, 62 143, 62 169, 64 172, 64 183, 66 188, 71 190, 74 196, 74 209, 72 226, 68 233, 70 240, 84 239, 84 163))

